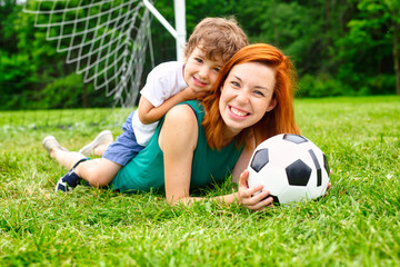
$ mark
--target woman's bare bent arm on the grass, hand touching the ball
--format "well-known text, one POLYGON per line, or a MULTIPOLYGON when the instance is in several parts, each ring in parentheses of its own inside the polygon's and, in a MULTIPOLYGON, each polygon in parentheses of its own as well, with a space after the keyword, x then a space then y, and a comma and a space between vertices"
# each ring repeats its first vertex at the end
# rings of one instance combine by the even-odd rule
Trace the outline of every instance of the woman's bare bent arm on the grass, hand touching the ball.
MULTIPOLYGON (((159 145, 164 156, 166 197, 170 204, 188 204, 204 199, 193 198, 189 195, 193 151, 197 142, 198 122, 194 112, 188 105, 173 107, 167 113, 159 136, 159 145)), ((250 150, 243 154, 243 162, 246 158, 249 160, 250 150)), ((214 197, 212 200, 232 204, 234 199, 238 199, 241 205, 250 209, 261 209, 271 204, 272 198, 262 200, 268 196, 268 191, 252 196, 261 188, 249 189, 247 178, 248 174, 242 172, 238 192, 214 197)))

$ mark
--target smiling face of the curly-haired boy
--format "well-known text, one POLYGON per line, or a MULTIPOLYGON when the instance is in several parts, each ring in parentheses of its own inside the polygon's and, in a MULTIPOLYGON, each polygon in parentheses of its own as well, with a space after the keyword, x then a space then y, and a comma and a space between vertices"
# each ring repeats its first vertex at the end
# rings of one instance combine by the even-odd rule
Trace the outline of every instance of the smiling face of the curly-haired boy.
POLYGON ((184 59, 183 79, 193 91, 208 91, 216 83, 222 66, 222 59, 210 60, 201 49, 196 48, 184 59))

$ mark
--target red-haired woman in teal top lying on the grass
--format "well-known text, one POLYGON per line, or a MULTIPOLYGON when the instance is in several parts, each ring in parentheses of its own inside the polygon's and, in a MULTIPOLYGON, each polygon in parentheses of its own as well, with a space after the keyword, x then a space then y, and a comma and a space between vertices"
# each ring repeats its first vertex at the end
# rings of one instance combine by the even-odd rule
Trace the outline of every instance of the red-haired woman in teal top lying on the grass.
MULTIPOLYGON (((256 146, 281 132, 299 134, 293 117, 293 76, 290 60, 269 44, 238 51, 223 67, 217 86, 200 102, 173 107, 159 123, 149 145, 109 184, 121 191, 164 188, 167 201, 190 202, 190 189, 223 180, 232 171, 239 191, 217 197, 234 199, 250 208, 272 204, 269 191, 253 196, 262 186, 248 188, 244 170, 256 146), (234 168, 233 168, 234 167, 234 168), (243 171, 244 170, 244 171, 243 171)), ((54 146, 51 154, 64 166, 83 156, 54 146), (60 162, 60 160, 59 160, 60 162)), ((90 176, 84 161, 73 168, 92 186, 106 186, 90 176)))

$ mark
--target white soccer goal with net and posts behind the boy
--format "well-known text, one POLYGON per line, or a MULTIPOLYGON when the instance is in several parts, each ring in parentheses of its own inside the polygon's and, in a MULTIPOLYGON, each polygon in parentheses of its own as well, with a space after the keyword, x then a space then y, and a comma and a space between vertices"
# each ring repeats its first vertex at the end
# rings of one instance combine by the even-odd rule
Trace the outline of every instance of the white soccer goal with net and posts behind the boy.
POLYGON ((182 60, 184 0, 174 0, 176 28, 150 0, 28 0, 23 11, 34 14, 34 27, 46 29, 47 40, 67 55, 83 81, 106 90, 114 106, 134 106, 148 50, 154 66, 153 17, 176 39, 177 60, 182 60))

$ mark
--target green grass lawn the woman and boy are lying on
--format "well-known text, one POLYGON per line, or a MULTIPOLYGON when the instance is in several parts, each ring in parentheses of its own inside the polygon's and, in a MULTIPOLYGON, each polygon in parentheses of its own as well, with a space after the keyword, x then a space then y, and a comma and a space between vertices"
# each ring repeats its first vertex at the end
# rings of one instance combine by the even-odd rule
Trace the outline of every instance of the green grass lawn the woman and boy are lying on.
POLYGON ((319 201, 251 212, 170 207, 157 192, 54 194, 64 170, 42 138, 79 149, 102 129, 120 134, 128 112, 0 112, 0 266, 400 265, 400 97, 296 101, 302 134, 333 170, 319 201))

